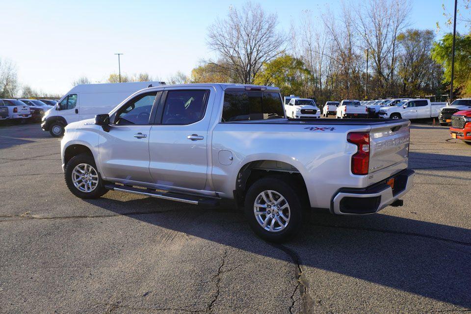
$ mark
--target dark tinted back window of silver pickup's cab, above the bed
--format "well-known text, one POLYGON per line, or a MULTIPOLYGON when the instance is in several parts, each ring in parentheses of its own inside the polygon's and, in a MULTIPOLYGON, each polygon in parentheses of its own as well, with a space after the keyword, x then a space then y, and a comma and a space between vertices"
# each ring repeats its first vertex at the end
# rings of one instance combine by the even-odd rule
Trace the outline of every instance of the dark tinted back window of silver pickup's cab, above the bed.
POLYGON ((264 91, 226 91, 222 122, 285 118, 279 93, 264 91))

